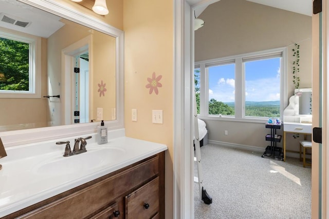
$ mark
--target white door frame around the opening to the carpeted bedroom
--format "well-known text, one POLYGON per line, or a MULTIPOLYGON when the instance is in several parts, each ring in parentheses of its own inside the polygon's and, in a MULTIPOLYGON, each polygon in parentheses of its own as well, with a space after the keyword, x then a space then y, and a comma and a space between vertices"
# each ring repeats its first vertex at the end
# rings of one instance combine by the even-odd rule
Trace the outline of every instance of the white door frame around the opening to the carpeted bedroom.
MULTIPOLYGON (((211 0, 202 1, 201 4, 210 2, 211 0)), ((193 206, 193 156, 191 151, 191 140, 193 124, 191 124, 193 112, 192 112, 192 88, 193 78, 191 77, 191 70, 193 64, 193 20, 191 12, 193 7, 187 2, 187 0, 179 1, 174 0, 174 181, 173 181, 173 218, 193 218, 194 206, 193 206)), ((329 6, 327 0, 322 0, 322 38, 323 38, 323 89, 322 89, 322 107, 323 107, 323 136, 322 145, 326 145, 327 137, 329 136, 329 112, 327 111, 326 100, 329 97, 327 90, 327 84, 329 83, 329 77, 326 77, 326 73, 329 72, 329 67, 326 65, 329 62, 327 51, 329 51, 329 45, 327 38, 329 36, 329 19, 327 12, 329 6)), ((314 74, 315 72, 313 72, 314 74)), ((314 77, 313 77, 314 78, 314 77)), ((318 86, 313 82, 313 87, 318 86)), ((313 143, 315 144, 315 143, 313 143)), ((321 155, 321 154, 320 154, 321 155)), ((325 168, 327 163, 327 157, 329 157, 329 150, 323 148, 321 155, 322 170, 319 174, 319 168, 312 169, 312 181, 319 182, 319 186, 312 186, 312 218, 326 218, 327 209, 329 209, 329 203, 327 203, 327 197, 329 192, 326 187, 329 187, 329 182, 326 180, 329 175, 329 168, 325 168), (316 173, 317 172, 317 173, 316 173), (316 174, 315 174, 316 173, 316 174), (327 184, 328 183, 328 184, 327 184), (319 195, 321 194, 321 195, 319 195), (320 199, 320 200, 319 200, 320 199), (321 201, 322 204, 319 204, 321 201), (321 214, 321 215, 319 215, 321 214), (319 217, 320 216, 320 217, 319 217)), ((316 161, 314 161, 316 162, 316 161)))

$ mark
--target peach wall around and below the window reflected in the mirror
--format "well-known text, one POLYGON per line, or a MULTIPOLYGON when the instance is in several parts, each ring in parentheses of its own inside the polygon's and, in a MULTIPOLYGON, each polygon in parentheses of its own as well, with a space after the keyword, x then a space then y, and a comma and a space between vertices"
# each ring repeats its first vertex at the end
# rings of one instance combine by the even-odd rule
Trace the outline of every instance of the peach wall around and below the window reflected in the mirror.
MULTIPOLYGON (((13 30, 10 31, 18 33, 13 30)), ((47 39, 45 38, 41 38, 41 50, 42 96, 47 94, 47 63, 44 62, 44 59, 47 58, 47 39)), ((48 121, 48 99, 43 97, 0 98, 0 112, 0 131, 45 127, 48 121)))

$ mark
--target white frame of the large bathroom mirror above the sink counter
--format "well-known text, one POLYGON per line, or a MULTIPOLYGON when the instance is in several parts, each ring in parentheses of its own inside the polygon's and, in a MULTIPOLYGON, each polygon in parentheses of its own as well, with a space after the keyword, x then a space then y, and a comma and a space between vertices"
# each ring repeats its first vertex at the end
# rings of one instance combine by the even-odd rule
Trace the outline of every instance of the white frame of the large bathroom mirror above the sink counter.
MULTIPOLYGON (((105 121, 109 130, 124 128, 124 99, 123 99, 123 47, 124 32, 98 19, 91 17, 70 7, 60 4, 56 0, 17 0, 35 8, 47 11, 70 21, 95 29, 116 38, 116 120, 105 121)), ((64 103, 62 102, 62 105, 64 103)), ((36 129, 0 132, 5 147, 54 140, 57 138, 83 135, 97 131, 97 123, 62 125, 36 129)))

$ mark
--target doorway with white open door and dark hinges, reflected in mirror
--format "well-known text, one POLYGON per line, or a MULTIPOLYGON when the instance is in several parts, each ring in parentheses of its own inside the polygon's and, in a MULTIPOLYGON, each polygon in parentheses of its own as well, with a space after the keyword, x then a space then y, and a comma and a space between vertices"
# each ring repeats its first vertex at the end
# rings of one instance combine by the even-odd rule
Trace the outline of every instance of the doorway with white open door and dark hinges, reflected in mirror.
POLYGON ((63 125, 89 122, 91 40, 89 35, 62 50, 63 125))

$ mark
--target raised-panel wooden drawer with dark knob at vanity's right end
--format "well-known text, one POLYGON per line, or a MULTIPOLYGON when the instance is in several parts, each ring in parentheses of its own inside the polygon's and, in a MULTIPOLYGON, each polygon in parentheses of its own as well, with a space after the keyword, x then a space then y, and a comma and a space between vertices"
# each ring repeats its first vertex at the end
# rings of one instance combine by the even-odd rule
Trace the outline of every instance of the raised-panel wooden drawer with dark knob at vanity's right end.
POLYGON ((159 177, 125 196, 125 216, 129 218, 153 218, 159 211, 159 177))

